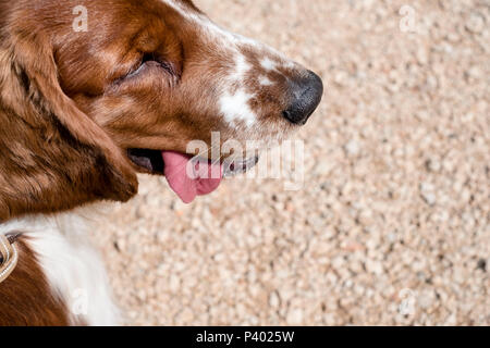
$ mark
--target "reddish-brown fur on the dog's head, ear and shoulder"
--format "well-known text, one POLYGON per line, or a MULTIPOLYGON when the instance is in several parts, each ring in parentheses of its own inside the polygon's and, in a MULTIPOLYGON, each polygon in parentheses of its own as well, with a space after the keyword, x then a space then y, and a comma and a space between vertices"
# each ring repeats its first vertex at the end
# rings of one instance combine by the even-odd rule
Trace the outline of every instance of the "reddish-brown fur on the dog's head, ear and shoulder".
MULTIPOLYGON (((189 12, 200 14, 188 0, 189 12)), ((131 148, 185 152, 194 139, 245 140, 219 114, 219 82, 233 69, 212 41, 158 0, 85 0, 88 33, 72 28, 73 0, 0 0, 0 223, 56 213, 96 200, 126 201, 137 192, 131 148), (145 54, 158 62, 145 64, 145 54), (161 63, 161 64, 160 64, 161 63)), ((250 102, 258 139, 283 135, 284 74, 269 74, 260 51, 244 49, 256 75, 274 87, 250 102), (258 57, 257 57, 258 55, 258 57), (261 132, 261 133, 260 133, 261 132)), ((297 73, 297 72, 296 72, 297 73)), ((20 264, 0 285, 0 325, 68 324, 33 250, 20 243, 20 264)))

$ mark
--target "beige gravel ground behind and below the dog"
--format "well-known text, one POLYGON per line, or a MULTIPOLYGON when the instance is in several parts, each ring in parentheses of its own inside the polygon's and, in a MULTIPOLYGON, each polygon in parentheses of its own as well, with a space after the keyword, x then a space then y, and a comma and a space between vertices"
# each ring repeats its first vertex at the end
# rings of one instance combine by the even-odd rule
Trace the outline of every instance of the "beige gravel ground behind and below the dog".
POLYGON ((196 2, 326 96, 303 189, 238 177, 184 206, 142 177, 110 210, 127 324, 489 325, 490 1, 196 2))

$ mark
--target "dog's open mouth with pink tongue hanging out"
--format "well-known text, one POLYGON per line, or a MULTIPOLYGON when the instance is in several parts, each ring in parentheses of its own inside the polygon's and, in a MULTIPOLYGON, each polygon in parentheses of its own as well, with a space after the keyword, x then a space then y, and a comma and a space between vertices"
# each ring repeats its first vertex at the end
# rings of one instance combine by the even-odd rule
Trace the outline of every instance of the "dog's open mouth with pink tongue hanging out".
POLYGON ((127 157, 139 172, 164 175, 170 187, 185 202, 218 188, 221 181, 247 172, 254 167, 259 156, 226 158, 210 161, 174 151, 128 149, 127 157))

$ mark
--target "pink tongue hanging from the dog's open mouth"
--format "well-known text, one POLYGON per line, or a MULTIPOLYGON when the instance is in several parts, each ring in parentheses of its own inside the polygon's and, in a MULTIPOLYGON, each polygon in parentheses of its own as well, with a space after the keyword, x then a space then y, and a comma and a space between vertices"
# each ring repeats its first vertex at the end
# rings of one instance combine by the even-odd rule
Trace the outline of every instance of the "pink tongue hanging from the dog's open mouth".
POLYGON ((189 163, 188 156, 171 151, 162 151, 162 157, 167 181, 184 203, 191 203, 196 196, 208 195, 220 186, 223 174, 220 164, 189 163))

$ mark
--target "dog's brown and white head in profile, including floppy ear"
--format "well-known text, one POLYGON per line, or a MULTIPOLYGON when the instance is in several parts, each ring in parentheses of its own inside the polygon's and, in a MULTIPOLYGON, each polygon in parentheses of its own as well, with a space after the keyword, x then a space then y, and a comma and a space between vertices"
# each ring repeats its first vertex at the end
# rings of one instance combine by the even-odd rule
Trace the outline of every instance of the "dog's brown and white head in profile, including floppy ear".
POLYGON ((21 186, 50 197, 30 211, 126 200, 136 172, 175 170, 196 154, 191 141, 211 149, 213 132, 221 142, 282 140, 322 95, 317 75, 189 0, 1 0, 0 39, 0 145, 12 148, 0 160, 16 166, 0 181, 30 171, 21 186))

